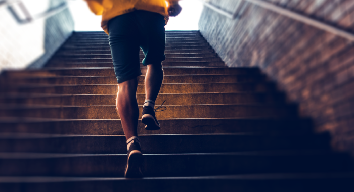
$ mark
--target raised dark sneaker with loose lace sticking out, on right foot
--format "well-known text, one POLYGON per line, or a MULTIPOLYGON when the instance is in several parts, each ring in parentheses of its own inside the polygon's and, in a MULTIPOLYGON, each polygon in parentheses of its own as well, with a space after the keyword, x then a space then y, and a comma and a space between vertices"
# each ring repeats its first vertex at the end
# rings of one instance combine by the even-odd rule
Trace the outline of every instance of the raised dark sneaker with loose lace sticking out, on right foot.
MULTIPOLYGON (((165 103, 165 102, 163 102, 165 103)), ((156 108, 155 110, 150 107, 150 106, 144 106, 143 107, 143 112, 142 112, 142 123, 144 123, 145 129, 146 130, 159 130, 160 129, 160 123, 157 121, 156 116, 155 116, 155 111, 164 111, 166 110, 166 107, 161 107, 163 103, 160 105, 160 107, 156 108), (162 110, 158 110, 164 108, 162 110)))

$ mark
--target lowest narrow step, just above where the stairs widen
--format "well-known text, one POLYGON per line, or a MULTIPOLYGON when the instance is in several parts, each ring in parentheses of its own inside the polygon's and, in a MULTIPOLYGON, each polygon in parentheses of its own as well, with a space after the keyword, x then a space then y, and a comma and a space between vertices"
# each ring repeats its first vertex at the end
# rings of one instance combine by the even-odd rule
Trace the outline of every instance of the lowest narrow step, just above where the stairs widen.
MULTIPOLYGON (((202 62, 162 62, 163 67, 225 67, 225 63, 218 61, 218 62, 208 62, 208 61, 202 61, 202 62)), ((81 62, 76 62, 76 63, 71 63, 71 62, 49 62, 46 64, 45 67, 51 67, 51 68, 68 68, 68 67, 112 67, 113 62, 108 62, 108 63, 81 63, 81 62)), ((140 64, 140 67, 144 67, 142 64, 140 64)))

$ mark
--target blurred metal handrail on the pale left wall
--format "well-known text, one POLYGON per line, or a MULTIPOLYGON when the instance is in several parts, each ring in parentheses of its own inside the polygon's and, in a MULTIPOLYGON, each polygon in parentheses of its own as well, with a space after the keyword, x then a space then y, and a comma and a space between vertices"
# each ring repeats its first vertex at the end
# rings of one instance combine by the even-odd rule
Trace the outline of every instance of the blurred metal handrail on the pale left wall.
POLYGON ((27 8, 25 7, 25 5, 22 3, 22 1, 2 1, 0 2, 0 5, 6 4, 8 6, 8 10, 10 11, 10 13, 14 16, 14 18, 16 19, 16 21, 20 24, 26 24, 29 23, 33 20, 36 19, 40 19, 40 18, 48 18, 51 17, 53 15, 56 15, 57 13, 63 11, 64 9, 66 9, 68 7, 66 2, 63 2, 62 4, 58 5, 57 7, 54 8, 50 8, 45 12, 36 14, 34 16, 32 16, 29 11, 27 10, 27 8), (23 14, 25 15, 25 19, 22 19, 19 14, 16 12, 16 10, 13 8, 13 5, 17 3, 21 9, 21 11, 23 12, 23 14))

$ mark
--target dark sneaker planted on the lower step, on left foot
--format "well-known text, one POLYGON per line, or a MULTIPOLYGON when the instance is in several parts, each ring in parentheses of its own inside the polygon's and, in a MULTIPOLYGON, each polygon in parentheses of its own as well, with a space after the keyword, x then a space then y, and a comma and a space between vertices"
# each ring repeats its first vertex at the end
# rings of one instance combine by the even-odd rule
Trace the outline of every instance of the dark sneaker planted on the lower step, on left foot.
POLYGON ((132 141, 128 151, 128 161, 125 166, 125 178, 142 178, 141 167, 143 165, 143 154, 138 142, 132 141))

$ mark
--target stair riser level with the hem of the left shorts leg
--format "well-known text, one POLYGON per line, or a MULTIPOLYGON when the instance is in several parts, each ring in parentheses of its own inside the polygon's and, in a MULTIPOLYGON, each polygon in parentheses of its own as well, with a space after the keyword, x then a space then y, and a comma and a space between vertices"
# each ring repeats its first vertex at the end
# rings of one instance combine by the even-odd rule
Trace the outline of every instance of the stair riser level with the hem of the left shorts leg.
MULTIPOLYGON (((10 80, 10 79, 9 79, 10 80)), ((145 76, 138 77, 138 83, 144 84, 145 76)), ((163 83, 238 83, 260 82, 261 75, 164 75, 163 83)), ((6 85, 12 84, 117 84, 116 76, 56 76, 56 77, 23 77, 11 79, 6 85)))

